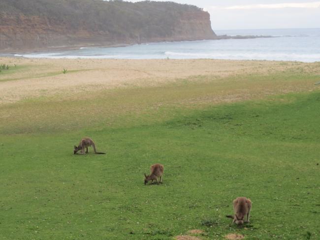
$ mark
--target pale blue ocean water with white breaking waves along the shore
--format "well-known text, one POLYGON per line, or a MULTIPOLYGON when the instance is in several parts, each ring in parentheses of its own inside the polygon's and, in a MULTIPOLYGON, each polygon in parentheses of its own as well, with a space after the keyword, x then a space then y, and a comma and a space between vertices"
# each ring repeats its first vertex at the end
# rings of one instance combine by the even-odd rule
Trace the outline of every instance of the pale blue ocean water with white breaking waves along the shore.
POLYGON ((320 61, 320 29, 215 30, 217 35, 267 35, 270 38, 157 42, 126 47, 17 53, 50 59, 224 59, 320 61))

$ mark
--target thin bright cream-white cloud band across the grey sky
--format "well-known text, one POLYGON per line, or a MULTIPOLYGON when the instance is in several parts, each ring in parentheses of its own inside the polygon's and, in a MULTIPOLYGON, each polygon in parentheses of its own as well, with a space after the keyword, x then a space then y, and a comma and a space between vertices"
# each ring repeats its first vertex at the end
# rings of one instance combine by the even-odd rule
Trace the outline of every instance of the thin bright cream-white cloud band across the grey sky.
POLYGON ((276 3, 276 4, 249 4, 249 5, 233 5, 226 7, 211 6, 210 8, 223 8, 223 9, 279 9, 279 8, 319 8, 320 1, 312 2, 288 2, 288 3, 276 3))

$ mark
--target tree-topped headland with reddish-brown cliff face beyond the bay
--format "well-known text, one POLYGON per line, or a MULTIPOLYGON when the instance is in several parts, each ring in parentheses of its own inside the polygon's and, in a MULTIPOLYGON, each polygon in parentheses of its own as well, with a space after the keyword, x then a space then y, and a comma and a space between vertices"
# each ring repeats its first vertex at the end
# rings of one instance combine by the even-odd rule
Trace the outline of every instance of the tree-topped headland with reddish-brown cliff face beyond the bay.
POLYGON ((173 2, 1 0, 0 51, 210 39, 210 15, 173 2))

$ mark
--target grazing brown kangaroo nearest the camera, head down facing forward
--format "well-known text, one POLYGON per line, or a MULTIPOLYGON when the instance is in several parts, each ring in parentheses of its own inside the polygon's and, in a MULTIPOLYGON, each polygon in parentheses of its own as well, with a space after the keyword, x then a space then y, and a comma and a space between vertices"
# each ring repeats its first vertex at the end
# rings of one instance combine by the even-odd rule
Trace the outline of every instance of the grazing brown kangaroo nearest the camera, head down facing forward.
POLYGON ((227 215, 226 217, 233 218, 232 224, 235 222, 240 225, 243 224, 243 219, 247 216, 247 221, 250 222, 250 210, 251 210, 251 200, 245 197, 238 197, 233 200, 233 211, 234 215, 227 215))

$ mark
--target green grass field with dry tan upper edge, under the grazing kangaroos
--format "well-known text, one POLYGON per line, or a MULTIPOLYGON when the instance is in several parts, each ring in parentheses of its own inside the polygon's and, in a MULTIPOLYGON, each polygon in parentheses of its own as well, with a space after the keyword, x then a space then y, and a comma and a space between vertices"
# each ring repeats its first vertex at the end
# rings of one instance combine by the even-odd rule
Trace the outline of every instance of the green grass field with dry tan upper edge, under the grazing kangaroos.
POLYGON ((320 90, 190 100, 210 86, 0 106, 0 239, 173 240, 192 229, 202 240, 320 239, 320 90), (84 136, 107 154, 74 155, 84 136), (153 163, 163 184, 144 185, 153 163), (253 202, 244 228, 225 217, 238 196, 253 202))

